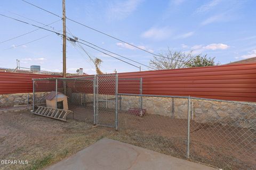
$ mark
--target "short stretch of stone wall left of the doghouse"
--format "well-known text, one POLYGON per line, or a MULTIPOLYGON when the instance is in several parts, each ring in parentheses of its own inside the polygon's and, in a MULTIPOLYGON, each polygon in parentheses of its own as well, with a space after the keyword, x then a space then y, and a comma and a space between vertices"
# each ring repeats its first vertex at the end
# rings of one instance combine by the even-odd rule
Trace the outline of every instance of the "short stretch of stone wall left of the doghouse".
MULTIPOLYGON (((35 94, 35 104, 45 103, 45 96, 47 94, 48 92, 37 92, 35 94)), ((33 104, 33 93, 0 95, 0 108, 28 104, 33 104)))

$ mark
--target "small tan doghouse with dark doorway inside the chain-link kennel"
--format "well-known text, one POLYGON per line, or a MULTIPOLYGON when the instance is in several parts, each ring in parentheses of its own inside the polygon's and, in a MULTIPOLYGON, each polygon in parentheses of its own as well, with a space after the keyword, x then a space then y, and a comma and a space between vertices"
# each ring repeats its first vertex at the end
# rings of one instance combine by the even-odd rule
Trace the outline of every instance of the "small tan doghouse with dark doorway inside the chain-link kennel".
MULTIPOLYGON (((45 99, 47 107, 56 108, 56 91, 51 91, 45 99)), ((67 96, 61 92, 57 92, 57 108, 68 110, 67 96)))

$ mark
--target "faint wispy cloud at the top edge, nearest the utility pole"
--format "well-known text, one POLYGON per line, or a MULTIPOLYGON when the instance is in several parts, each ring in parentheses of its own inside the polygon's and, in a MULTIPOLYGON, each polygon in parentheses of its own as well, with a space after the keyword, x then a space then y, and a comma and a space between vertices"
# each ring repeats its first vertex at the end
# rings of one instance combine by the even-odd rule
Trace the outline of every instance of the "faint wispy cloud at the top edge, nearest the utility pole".
POLYGON ((141 2, 142 0, 117 1, 117 3, 109 5, 107 8, 107 16, 110 20, 122 20, 137 10, 141 2))

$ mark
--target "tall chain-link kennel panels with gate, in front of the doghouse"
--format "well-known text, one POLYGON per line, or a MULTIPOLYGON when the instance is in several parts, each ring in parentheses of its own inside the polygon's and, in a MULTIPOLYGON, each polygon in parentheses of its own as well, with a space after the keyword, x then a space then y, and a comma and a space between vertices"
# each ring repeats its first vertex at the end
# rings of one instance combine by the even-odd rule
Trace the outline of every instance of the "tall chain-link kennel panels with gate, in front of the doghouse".
MULTIPOLYGON (((80 78, 46 78, 33 80, 33 111, 38 105, 46 106, 46 97, 52 95, 50 108, 67 110, 75 120, 94 125, 118 126, 118 75, 105 74, 80 78)), ((54 118, 54 117, 53 117, 54 118)), ((71 118, 70 115, 68 118, 71 118)))

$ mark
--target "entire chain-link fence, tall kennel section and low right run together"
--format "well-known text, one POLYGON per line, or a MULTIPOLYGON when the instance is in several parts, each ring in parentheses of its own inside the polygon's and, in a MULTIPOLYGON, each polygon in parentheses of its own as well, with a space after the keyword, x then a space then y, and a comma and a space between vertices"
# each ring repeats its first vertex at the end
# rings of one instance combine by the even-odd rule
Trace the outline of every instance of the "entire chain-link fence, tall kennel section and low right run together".
POLYGON ((117 74, 41 79, 34 81, 34 104, 55 91, 67 96, 77 120, 114 127, 141 147, 223 169, 256 169, 256 104, 142 90, 142 79, 117 74))

